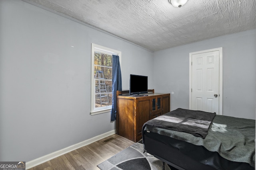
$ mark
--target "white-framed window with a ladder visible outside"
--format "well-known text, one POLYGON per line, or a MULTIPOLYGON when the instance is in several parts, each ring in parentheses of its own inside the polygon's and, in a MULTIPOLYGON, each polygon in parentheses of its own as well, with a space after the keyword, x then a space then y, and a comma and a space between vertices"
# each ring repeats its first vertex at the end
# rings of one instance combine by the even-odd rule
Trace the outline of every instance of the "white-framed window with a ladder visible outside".
POLYGON ((112 55, 121 52, 92 43, 91 115, 112 109, 112 55))

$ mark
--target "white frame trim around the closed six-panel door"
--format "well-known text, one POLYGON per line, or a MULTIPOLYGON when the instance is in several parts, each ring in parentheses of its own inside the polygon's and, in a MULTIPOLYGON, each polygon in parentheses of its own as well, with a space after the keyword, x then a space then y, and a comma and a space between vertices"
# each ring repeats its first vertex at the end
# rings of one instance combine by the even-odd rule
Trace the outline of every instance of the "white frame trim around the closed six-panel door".
POLYGON ((203 51, 189 53, 189 109, 192 108, 192 55, 207 53, 211 51, 219 51, 219 115, 222 115, 222 88, 223 88, 223 63, 222 63, 222 47, 203 51))

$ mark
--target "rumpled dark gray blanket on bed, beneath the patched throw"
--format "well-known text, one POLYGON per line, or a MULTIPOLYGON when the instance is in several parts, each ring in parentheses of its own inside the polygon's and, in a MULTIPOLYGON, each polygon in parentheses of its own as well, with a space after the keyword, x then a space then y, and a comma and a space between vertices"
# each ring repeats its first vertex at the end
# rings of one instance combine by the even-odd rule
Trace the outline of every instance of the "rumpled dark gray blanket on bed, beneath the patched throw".
POLYGON ((252 119, 216 115, 205 139, 158 127, 147 126, 145 130, 204 146, 228 160, 255 166, 255 120, 252 119))

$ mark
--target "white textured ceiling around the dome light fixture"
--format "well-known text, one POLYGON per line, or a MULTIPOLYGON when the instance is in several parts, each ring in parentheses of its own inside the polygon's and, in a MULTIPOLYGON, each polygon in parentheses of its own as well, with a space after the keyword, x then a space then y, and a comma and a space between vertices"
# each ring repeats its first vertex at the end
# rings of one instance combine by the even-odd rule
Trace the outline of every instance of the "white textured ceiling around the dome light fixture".
POLYGON ((256 0, 24 0, 150 51, 255 29, 256 0))

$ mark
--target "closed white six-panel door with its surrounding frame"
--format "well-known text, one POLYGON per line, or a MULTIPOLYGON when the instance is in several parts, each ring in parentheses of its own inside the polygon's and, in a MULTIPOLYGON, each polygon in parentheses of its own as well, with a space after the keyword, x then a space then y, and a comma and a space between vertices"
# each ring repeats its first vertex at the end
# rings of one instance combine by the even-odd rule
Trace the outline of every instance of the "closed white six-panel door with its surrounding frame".
POLYGON ((222 48, 190 53, 190 109, 222 114, 220 53, 222 48))

